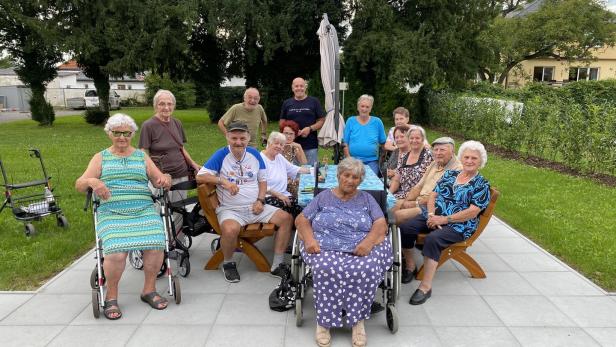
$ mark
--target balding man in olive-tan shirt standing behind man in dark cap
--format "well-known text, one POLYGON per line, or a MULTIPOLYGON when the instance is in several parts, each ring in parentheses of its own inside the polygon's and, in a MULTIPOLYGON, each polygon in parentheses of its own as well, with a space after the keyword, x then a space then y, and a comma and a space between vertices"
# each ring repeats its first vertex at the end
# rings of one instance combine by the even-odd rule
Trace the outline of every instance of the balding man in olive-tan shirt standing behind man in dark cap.
POLYGON ((229 124, 242 122, 248 127, 251 147, 258 146, 259 128, 261 128, 261 142, 267 139, 267 116, 263 106, 259 105, 259 91, 257 88, 248 88, 244 92, 244 102, 235 104, 218 121, 218 128, 223 134, 227 134, 229 124))

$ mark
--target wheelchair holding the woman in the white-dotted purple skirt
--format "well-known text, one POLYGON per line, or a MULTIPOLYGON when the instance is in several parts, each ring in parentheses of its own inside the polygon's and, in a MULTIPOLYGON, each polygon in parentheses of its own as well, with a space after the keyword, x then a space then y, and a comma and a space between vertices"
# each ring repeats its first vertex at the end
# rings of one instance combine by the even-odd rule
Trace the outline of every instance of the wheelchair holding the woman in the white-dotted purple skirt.
MULTIPOLYGON (((315 187, 315 196, 323 189, 315 187)), ((384 190, 368 190, 376 201, 381 206, 385 217, 387 218, 387 192, 384 190)), ((398 311, 396 309, 396 301, 400 296, 400 280, 401 280, 401 246, 400 246, 400 230, 393 224, 393 221, 388 220, 388 235, 383 242, 390 242, 393 252, 393 262, 387 270, 385 278, 379 285, 383 303, 385 304, 385 319, 387 327, 392 334, 398 331, 398 311)), ((303 324, 303 302, 306 293, 312 287, 312 272, 310 267, 303 261, 300 253, 299 233, 295 233, 293 240, 293 250, 291 254, 291 278, 295 285, 295 325, 303 324)), ((378 289, 377 289, 378 295, 378 289)))

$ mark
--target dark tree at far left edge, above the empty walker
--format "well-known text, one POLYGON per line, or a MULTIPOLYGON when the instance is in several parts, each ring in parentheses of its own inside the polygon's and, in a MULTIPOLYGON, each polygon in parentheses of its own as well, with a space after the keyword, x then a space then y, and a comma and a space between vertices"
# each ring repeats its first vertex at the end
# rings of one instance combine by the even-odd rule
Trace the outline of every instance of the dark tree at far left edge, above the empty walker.
POLYGON ((54 112, 45 100, 47 83, 57 76, 62 59, 54 1, 0 0, 0 49, 13 58, 15 72, 30 88, 32 119, 51 125, 54 112))

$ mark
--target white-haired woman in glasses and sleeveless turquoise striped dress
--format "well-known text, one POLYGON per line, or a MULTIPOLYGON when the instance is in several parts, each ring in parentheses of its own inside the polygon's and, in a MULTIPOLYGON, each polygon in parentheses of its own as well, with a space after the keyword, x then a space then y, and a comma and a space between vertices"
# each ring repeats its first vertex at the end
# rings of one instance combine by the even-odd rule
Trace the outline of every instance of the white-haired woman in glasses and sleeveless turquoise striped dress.
POLYGON ((118 305, 118 283, 129 251, 143 251, 145 281, 141 300, 163 310, 167 299, 156 292, 156 275, 164 257, 163 222, 152 202, 148 181, 155 187, 169 188, 171 177, 163 174, 143 151, 131 145, 137 131, 135 121, 122 113, 107 120, 105 132, 111 146, 92 157, 75 188, 91 188, 101 199, 96 228, 103 242, 103 269, 107 283, 104 315, 122 317, 118 305))

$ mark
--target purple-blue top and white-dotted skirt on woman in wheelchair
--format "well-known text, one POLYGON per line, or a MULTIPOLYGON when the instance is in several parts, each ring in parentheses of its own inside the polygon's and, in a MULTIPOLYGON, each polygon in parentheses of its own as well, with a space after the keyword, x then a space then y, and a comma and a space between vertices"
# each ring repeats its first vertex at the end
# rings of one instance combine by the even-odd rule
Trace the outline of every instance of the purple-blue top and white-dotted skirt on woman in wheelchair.
POLYGON ((354 326, 370 318, 370 306, 393 255, 388 239, 365 257, 354 255, 372 223, 383 217, 374 198, 359 191, 348 201, 325 190, 303 210, 311 221, 321 253, 308 254, 300 244, 302 258, 312 269, 317 323, 325 328, 354 326))

